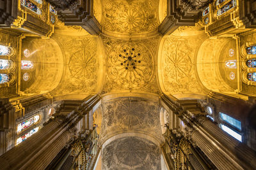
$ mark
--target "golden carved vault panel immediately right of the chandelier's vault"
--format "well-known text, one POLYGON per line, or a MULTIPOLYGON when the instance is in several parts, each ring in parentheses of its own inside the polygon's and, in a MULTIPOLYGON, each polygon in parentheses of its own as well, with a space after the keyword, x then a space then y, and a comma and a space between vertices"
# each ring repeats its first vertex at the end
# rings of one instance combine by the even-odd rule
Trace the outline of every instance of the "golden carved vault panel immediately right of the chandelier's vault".
POLYGON ((204 91, 196 79, 194 64, 195 50, 202 39, 202 36, 182 39, 171 36, 165 39, 161 67, 166 92, 204 91))

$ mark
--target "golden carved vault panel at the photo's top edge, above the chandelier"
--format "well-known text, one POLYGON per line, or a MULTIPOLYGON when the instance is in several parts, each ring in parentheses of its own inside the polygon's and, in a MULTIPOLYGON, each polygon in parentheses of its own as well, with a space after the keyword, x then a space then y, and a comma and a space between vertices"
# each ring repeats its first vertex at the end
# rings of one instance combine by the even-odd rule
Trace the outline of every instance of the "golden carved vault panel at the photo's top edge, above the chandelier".
POLYGON ((157 1, 105 0, 103 6, 103 25, 107 31, 138 33, 157 29, 157 1))

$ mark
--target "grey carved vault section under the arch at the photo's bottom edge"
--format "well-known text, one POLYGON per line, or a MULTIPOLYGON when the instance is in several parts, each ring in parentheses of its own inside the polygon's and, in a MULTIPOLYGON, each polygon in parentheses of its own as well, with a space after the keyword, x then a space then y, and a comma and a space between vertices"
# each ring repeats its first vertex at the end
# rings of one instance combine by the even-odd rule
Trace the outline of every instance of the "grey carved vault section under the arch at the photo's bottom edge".
POLYGON ((147 139, 126 137, 107 145, 102 153, 103 169, 160 169, 159 148, 147 139))

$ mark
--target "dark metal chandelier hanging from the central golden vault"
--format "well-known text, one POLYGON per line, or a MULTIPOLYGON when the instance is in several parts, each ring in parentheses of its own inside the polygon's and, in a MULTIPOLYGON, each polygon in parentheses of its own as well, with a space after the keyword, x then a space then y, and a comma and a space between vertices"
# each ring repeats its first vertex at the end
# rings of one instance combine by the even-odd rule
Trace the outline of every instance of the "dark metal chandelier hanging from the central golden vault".
POLYGON ((129 67, 132 67, 133 69, 136 69, 136 64, 140 63, 141 60, 136 60, 136 57, 140 56, 140 53, 137 55, 134 53, 134 48, 130 52, 127 52, 127 50, 124 50, 125 56, 122 54, 119 54, 119 57, 124 59, 124 62, 121 62, 121 66, 124 66, 125 69, 128 69, 129 67))

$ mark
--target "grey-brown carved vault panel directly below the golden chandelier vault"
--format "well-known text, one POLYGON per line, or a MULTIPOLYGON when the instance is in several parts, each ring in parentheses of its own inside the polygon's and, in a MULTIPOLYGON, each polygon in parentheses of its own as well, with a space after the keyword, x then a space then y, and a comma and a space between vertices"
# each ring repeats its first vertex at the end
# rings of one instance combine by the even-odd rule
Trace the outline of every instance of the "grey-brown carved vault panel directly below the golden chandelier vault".
POLYGON ((124 97, 108 101, 103 106, 101 139, 120 132, 147 132, 162 138, 157 102, 124 97))

